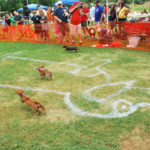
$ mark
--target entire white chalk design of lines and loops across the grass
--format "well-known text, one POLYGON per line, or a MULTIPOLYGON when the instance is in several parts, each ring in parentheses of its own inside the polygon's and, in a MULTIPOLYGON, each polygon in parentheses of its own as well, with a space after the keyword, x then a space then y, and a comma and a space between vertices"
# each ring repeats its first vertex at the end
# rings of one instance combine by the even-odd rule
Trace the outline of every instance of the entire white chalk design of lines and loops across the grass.
MULTIPOLYGON (((10 59, 18 59, 18 60, 28 60, 28 61, 34 61, 34 62, 42 62, 42 63, 48 63, 48 64, 59 64, 59 65, 69 65, 69 66, 74 66, 77 67, 75 70, 71 71, 70 73, 72 73, 73 75, 76 76, 82 76, 82 77, 95 77, 98 76, 100 74, 104 74, 106 77, 106 84, 104 85, 97 85, 94 86, 92 88, 90 88, 89 90, 86 90, 83 94, 83 96, 89 100, 89 101, 95 101, 98 103, 103 103, 107 100, 110 100, 116 96, 119 96, 120 94, 122 94, 123 92, 126 92, 129 89, 140 89, 140 90, 150 90, 150 88, 140 88, 140 87, 133 87, 133 84, 135 81, 128 81, 128 82, 118 82, 118 83, 110 83, 111 80, 111 76, 104 72, 102 69, 100 69, 101 66, 106 65, 108 63, 111 62, 111 60, 105 60, 105 62, 97 67, 95 67, 94 69, 96 69, 98 71, 98 73, 93 74, 93 75, 80 75, 79 72, 82 69, 86 69, 89 66, 93 65, 93 63, 85 66, 85 65, 76 65, 76 64, 70 64, 70 63, 64 63, 64 62, 51 62, 51 61, 47 61, 47 60, 38 60, 38 59, 33 59, 33 58, 26 58, 26 57, 17 57, 15 55, 17 54, 21 54, 21 52, 16 52, 16 53, 10 53, 10 54, 6 54, 3 55, 3 59, 5 60, 6 58, 10 58, 10 59), (99 88, 104 88, 104 87, 108 87, 108 86, 117 86, 117 85, 122 85, 124 84, 125 86, 113 93, 112 95, 109 95, 105 98, 95 98, 90 96, 90 93, 96 89, 99 88)), ((81 110, 80 108, 76 107, 70 99, 71 93, 70 92, 61 92, 61 91, 55 91, 55 90, 46 90, 46 89, 35 89, 35 88, 29 88, 29 87, 16 87, 16 86, 12 86, 12 85, 5 85, 5 84, 0 84, 0 87, 3 88, 11 88, 11 89, 23 89, 23 90, 29 90, 29 91, 39 91, 39 92, 46 92, 46 93, 54 93, 54 94, 59 94, 59 95, 63 95, 64 96, 64 102, 65 104, 76 114, 80 115, 80 116, 89 116, 89 117, 97 117, 97 118, 121 118, 121 117, 126 117, 129 114, 134 113, 139 107, 145 107, 145 106, 150 106, 150 103, 137 103, 135 105, 133 105, 131 102, 128 102, 125 99, 118 99, 117 101, 113 102, 111 104, 112 106, 112 112, 108 113, 108 114, 98 114, 98 113, 90 113, 88 111, 84 111, 81 110), (123 106, 121 107, 122 110, 126 109, 127 106, 129 107, 128 110, 126 112, 122 112, 120 113, 118 110, 118 106, 123 103, 123 106), (126 104, 126 105, 125 105, 126 104)))

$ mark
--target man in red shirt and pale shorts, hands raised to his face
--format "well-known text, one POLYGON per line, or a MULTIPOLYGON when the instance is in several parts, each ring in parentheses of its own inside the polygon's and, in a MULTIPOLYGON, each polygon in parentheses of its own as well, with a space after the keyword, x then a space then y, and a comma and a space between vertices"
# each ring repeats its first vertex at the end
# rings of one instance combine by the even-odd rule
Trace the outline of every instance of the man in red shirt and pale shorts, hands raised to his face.
POLYGON ((81 14, 82 11, 78 6, 78 2, 75 1, 73 6, 70 7, 69 13, 71 14, 71 25, 70 25, 70 32, 72 36, 72 43, 75 43, 75 34, 78 34, 79 43, 82 44, 81 41, 81 14))

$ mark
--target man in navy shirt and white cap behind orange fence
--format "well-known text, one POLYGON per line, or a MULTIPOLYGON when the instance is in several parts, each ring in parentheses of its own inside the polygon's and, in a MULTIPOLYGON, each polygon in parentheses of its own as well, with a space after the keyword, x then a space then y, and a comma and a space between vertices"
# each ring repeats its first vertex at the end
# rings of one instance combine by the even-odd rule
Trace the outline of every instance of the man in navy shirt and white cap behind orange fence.
POLYGON ((58 28, 60 32, 60 40, 65 42, 65 37, 67 37, 67 42, 69 42, 69 25, 68 25, 68 15, 66 16, 66 9, 63 8, 62 2, 57 2, 58 8, 55 9, 54 18, 58 22, 58 28))

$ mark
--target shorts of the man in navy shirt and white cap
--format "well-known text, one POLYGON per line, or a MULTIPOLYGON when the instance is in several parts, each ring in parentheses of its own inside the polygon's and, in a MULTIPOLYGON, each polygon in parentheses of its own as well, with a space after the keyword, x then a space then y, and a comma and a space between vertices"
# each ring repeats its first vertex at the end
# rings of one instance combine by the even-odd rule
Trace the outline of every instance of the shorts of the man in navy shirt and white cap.
POLYGON ((61 23, 58 23, 58 28, 59 28, 59 32, 65 36, 66 35, 66 32, 69 32, 70 29, 69 29, 69 25, 67 22, 61 22, 61 23))

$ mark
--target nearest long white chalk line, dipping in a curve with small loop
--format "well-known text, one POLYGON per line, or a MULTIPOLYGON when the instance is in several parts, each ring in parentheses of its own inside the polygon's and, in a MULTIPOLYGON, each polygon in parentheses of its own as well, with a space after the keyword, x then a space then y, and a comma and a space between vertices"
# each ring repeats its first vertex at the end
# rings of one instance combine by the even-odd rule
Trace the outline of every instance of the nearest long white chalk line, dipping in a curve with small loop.
MULTIPOLYGON (((127 117, 128 115, 134 113, 138 108, 150 106, 150 103, 137 103, 133 105, 131 102, 128 102, 124 99, 118 99, 117 101, 112 103, 112 109, 113 111, 108 114, 98 114, 98 113, 90 113, 88 111, 81 110, 80 108, 76 107, 71 99, 71 93, 70 92, 61 92, 61 91, 55 91, 55 90, 47 90, 47 89, 40 89, 40 88, 30 88, 30 87, 20 87, 20 86, 12 86, 12 85, 6 85, 6 84, 0 84, 0 87, 3 88, 10 88, 10 89, 23 89, 23 90, 29 90, 29 91, 38 91, 38 92, 45 92, 45 93, 54 93, 64 96, 64 102, 65 104, 76 114, 80 116, 88 116, 88 117, 97 117, 97 118, 122 118, 127 117), (129 109, 126 112, 120 113, 118 111, 118 105, 120 103, 126 103, 129 105, 129 109)), ((125 104, 123 105, 125 107, 125 104)))

